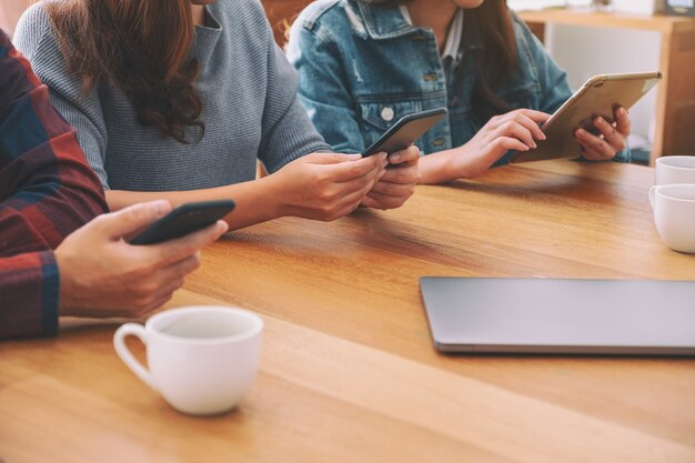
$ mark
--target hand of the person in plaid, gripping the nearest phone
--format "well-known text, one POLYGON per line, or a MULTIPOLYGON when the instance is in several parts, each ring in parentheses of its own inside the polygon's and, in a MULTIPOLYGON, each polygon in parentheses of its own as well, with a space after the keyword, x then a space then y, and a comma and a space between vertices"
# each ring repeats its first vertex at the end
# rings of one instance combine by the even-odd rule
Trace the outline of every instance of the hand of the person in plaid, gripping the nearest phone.
POLYGON ((185 275, 200 265, 197 252, 228 230, 226 224, 215 223, 183 239, 133 252, 123 236, 170 211, 168 201, 139 203, 103 214, 70 233, 54 251, 60 314, 139 318, 169 301, 185 275))

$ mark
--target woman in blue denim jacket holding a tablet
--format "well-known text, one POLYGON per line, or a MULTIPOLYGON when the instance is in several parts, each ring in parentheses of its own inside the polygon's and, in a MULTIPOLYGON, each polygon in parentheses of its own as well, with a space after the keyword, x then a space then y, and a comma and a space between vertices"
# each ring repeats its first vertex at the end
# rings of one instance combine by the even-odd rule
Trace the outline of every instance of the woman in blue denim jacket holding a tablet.
MULTIPOLYGON (((339 152, 360 152, 399 118, 449 117, 417 147, 422 182, 475 178, 535 148, 572 94, 566 74, 504 0, 318 0, 292 26, 288 57, 301 101, 339 152)), ((628 161, 629 118, 577 130, 587 160, 628 161)))

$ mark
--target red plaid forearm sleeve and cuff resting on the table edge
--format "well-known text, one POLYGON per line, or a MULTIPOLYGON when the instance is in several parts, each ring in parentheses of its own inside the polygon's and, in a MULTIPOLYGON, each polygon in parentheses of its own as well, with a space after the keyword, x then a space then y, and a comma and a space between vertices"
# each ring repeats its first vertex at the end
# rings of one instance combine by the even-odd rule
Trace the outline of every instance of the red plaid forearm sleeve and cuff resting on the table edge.
POLYGON ((0 340, 56 334, 58 294, 52 251, 0 259, 0 340))

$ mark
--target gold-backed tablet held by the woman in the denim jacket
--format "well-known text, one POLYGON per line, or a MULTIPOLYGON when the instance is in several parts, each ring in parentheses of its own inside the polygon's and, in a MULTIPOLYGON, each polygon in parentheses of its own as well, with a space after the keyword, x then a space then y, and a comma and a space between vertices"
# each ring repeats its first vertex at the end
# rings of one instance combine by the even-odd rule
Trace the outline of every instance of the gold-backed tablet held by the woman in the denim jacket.
POLYGON ((574 139, 576 129, 598 133, 593 123, 596 117, 613 123, 614 108, 629 110, 661 78, 661 72, 594 76, 541 127, 547 139, 537 141, 536 149, 516 151, 511 161, 580 157, 582 147, 574 139))

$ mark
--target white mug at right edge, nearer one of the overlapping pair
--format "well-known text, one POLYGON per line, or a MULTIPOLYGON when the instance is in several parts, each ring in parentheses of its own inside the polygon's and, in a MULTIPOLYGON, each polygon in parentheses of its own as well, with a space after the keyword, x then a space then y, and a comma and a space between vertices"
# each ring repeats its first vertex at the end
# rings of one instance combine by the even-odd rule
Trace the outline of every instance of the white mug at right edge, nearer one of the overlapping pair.
POLYGON ((652 187, 649 202, 664 243, 674 251, 695 253, 695 184, 652 187))

